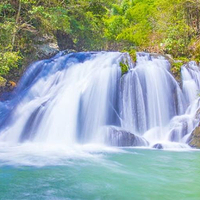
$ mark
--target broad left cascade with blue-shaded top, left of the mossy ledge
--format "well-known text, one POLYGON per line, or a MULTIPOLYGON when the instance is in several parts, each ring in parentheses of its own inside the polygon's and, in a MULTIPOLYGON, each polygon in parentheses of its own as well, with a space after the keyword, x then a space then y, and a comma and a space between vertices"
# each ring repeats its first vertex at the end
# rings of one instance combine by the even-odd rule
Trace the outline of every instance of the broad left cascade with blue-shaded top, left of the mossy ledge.
POLYGON ((19 96, 5 103, 12 108, 1 140, 66 145, 96 140, 99 127, 118 123, 120 57, 77 53, 33 64, 16 90, 19 96))

